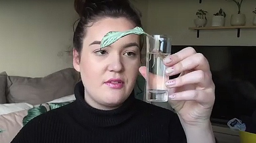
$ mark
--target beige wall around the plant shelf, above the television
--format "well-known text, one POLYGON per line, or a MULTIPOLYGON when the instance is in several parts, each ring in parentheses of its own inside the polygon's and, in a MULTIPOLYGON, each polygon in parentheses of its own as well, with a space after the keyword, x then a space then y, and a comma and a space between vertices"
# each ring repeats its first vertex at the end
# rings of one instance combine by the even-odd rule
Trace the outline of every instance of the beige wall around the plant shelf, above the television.
MULTIPOLYGON (((226 12, 226 25, 230 25, 231 14, 237 13, 237 6, 232 1, 225 0, 149 0, 147 13, 147 32, 160 33, 172 37, 173 45, 256 45, 256 28, 241 29, 237 38, 236 29, 201 30, 200 38, 196 38, 196 31, 188 27, 195 27, 196 11, 208 11, 207 18, 210 25, 213 13, 220 8, 226 12)), ((255 0, 244 0, 241 11, 246 15, 246 25, 252 25, 255 0)))

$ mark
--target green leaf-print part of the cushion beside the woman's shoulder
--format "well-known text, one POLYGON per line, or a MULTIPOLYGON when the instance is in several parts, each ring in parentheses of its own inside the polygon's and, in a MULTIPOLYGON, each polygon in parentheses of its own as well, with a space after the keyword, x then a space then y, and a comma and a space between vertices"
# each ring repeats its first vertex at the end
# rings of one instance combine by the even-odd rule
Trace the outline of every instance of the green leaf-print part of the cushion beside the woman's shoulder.
POLYGON ((28 110, 28 115, 23 118, 23 126, 25 126, 30 120, 32 120, 38 115, 41 115, 45 112, 59 108, 61 106, 67 105, 72 102, 73 101, 62 102, 62 103, 44 103, 44 104, 40 104, 37 107, 31 108, 28 110))

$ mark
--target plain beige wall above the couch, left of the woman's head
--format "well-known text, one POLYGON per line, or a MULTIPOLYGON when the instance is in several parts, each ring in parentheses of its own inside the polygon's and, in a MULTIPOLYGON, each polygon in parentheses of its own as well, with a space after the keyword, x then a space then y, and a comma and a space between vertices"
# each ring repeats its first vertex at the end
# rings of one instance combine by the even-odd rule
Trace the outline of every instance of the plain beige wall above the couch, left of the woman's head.
POLYGON ((39 77, 72 67, 73 0, 1 0, 0 72, 39 77))

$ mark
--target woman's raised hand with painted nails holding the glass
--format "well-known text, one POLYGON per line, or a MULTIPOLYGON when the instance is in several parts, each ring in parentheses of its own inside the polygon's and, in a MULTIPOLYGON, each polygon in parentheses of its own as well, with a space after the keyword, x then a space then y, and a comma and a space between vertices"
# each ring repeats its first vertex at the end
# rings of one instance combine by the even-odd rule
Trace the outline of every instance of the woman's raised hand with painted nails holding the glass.
MULTIPOLYGON (((179 77, 166 81, 168 103, 181 122, 191 126, 208 124, 215 100, 215 86, 207 59, 192 47, 187 47, 163 61, 168 76, 181 73, 179 77)), ((140 67, 139 71, 146 79, 146 67, 140 67)))

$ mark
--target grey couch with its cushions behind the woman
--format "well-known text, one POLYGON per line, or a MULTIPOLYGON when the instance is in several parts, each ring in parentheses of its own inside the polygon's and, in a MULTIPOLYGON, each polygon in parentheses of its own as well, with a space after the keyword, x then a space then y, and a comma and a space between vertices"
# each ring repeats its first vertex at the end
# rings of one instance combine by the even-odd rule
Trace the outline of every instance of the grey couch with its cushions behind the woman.
MULTIPOLYGON (((80 74, 73 68, 45 77, 10 76, 0 73, 0 142, 10 143, 34 117, 75 100, 74 87, 80 74)), ((135 97, 143 100, 145 80, 138 76, 135 97)))

